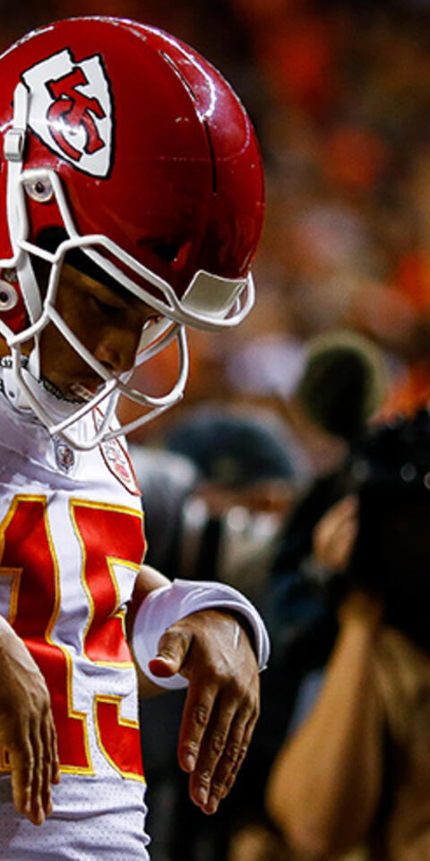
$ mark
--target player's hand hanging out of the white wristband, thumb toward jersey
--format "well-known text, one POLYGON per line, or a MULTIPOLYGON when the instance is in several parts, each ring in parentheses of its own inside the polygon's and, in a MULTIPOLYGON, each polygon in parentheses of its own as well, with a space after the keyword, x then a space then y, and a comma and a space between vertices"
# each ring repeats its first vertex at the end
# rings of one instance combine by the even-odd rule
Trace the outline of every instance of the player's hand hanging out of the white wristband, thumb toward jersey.
POLYGON ((151 673, 189 680, 178 760, 190 774, 190 796, 215 813, 244 760, 259 714, 257 662, 242 623, 230 613, 185 616, 159 640, 151 673))

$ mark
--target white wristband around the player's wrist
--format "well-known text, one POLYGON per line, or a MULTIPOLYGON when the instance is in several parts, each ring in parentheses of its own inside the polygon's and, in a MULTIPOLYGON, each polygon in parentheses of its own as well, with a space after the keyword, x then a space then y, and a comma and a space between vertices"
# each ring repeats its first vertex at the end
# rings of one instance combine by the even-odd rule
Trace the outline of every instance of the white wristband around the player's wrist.
POLYGON ((225 583, 205 580, 174 580, 170 586, 153 589, 142 601, 133 627, 133 652, 143 673, 160 687, 176 690, 188 684, 183 675, 159 678, 150 673, 148 662, 159 650, 159 639, 164 631, 198 610, 233 610, 244 616, 254 634, 254 647, 258 668, 263 670, 270 654, 269 635, 260 613, 237 589, 225 583))

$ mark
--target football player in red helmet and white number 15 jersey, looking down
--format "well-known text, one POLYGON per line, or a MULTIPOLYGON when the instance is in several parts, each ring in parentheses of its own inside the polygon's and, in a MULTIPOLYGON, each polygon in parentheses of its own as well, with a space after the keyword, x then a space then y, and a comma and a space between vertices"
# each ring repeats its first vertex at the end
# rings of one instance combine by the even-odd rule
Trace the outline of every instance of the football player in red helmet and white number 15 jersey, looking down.
POLYGON ((136 670, 188 685, 178 759, 213 813, 268 640, 235 589, 142 565, 122 435, 182 396, 186 325, 252 307, 262 164, 223 77, 137 22, 47 25, 0 79, 0 856, 145 859, 136 670), (134 371, 172 343, 149 395, 134 371))

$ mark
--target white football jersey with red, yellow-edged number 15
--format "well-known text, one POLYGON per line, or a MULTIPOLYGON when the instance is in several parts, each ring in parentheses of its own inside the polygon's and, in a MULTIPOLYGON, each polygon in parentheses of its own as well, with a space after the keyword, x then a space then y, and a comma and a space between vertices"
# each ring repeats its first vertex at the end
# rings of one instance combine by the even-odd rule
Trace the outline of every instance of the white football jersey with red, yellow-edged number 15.
MULTIPOLYGON (((93 414, 79 432, 92 435, 93 414)), ((144 778, 125 610, 144 552, 121 440, 49 438, 0 395, 0 613, 47 680, 61 783, 42 826, 15 811, 0 748, 1 861, 143 861, 144 778)))

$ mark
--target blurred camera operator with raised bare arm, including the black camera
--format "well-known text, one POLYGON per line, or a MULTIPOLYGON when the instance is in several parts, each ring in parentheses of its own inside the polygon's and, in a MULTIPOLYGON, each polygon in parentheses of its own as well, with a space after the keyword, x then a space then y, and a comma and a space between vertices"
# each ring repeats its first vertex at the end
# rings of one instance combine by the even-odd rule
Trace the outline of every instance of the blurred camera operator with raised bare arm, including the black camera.
POLYGON ((268 812, 306 861, 430 858, 429 442, 427 412, 370 432, 351 492, 314 528, 339 632, 267 788, 268 812))

